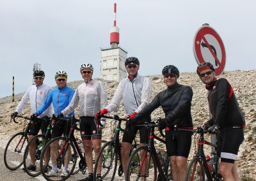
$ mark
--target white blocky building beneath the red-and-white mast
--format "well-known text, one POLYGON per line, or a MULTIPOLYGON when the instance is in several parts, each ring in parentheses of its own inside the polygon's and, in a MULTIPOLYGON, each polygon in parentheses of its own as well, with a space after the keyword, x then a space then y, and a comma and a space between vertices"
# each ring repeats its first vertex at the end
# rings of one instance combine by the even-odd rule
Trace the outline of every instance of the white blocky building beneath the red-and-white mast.
POLYGON ((100 72, 104 80, 120 81, 127 76, 124 66, 127 52, 122 48, 106 48, 101 52, 100 72))

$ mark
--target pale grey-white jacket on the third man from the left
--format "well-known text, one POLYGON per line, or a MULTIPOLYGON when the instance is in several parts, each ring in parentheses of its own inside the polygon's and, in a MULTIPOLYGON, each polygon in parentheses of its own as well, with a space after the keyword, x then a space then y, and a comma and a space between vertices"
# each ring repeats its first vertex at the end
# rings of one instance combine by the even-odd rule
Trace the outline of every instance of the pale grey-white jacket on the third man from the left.
POLYGON ((108 105, 107 93, 99 80, 90 80, 79 85, 70 104, 61 113, 65 116, 71 113, 78 105, 79 117, 94 115, 108 105))

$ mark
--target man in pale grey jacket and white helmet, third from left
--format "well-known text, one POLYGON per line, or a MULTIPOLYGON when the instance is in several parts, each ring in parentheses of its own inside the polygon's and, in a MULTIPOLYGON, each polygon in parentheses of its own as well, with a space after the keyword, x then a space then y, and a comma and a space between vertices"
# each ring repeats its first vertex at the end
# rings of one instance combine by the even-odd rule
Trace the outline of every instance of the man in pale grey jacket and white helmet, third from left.
MULTIPOLYGON (((81 65, 80 73, 84 79, 84 83, 79 85, 74 94, 71 103, 61 112, 62 115, 67 115, 80 106, 80 133, 83 140, 85 160, 88 167, 89 175, 81 180, 93 180, 93 155, 92 145, 95 152, 95 157, 99 154, 102 138, 102 127, 97 126, 94 120, 95 113, 99 112, 100 108, 108 105, 108 97, 103 87, 103 83, 99 80, 93 80, 93 66, 85 63, 81 65)), ((105 119, 101 120, 102 126, 105 125, 105 119)), ((101 165, 101 164, 100 164, 101 165)), ((97 180, 100 180, 100 166, 97 168, 97 180)))

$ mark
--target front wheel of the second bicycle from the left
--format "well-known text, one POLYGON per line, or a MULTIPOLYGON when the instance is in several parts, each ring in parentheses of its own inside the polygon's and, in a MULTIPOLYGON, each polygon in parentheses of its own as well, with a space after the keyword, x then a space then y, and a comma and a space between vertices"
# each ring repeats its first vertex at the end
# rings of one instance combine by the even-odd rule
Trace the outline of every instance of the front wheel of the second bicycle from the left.
MULTIPOLYGON (((25 149, 24 152, 24 158, 23 158, 23 165, 24 165, 24 170, 26 171, 26 173, 28 173, 29 176, 31 177, 37 177, 38 175, 41 174, 41 169, 40 169, 40 157, 41 157, 41 153, 42 150, 44 149, 45 145, 49 142, 49 138, 47 138, 45 135, 43 134, 38 134, 36 136, 34 136, 34 138, 32 138, 29 142, 28 145, 25 149), (33 143, 35 143, 36 141, 36 150, 35 150, 35 166, 36 166, 36 170, 35 171, 31 171, 28 170, 28 166, 29 164, 31 164, 31 155, 29 152, 29 146, 33 143)), ((47 161, 45 162, 46 166, 48 165, 49 162, 49 154, 47 155, 47 161)))

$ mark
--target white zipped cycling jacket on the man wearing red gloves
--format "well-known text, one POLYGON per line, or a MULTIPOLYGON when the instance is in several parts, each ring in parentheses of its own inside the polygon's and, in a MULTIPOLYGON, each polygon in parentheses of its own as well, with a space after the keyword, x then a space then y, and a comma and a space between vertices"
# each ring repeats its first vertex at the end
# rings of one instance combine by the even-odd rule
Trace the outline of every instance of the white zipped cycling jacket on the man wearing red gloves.
POLYGON ((105 108, 108 110, 108 113, 113 112, 116 110, 116 108, 118 108, 120 101, 123 99, 124 108, 127 115, 131 115, 133 112, 138 113, 143 107, 148 105, 150 94, 151 82, 149 78, 137 74, 134 80, 129 80, 129 78, 121 80, 111 100, 111 103, 105 108))

